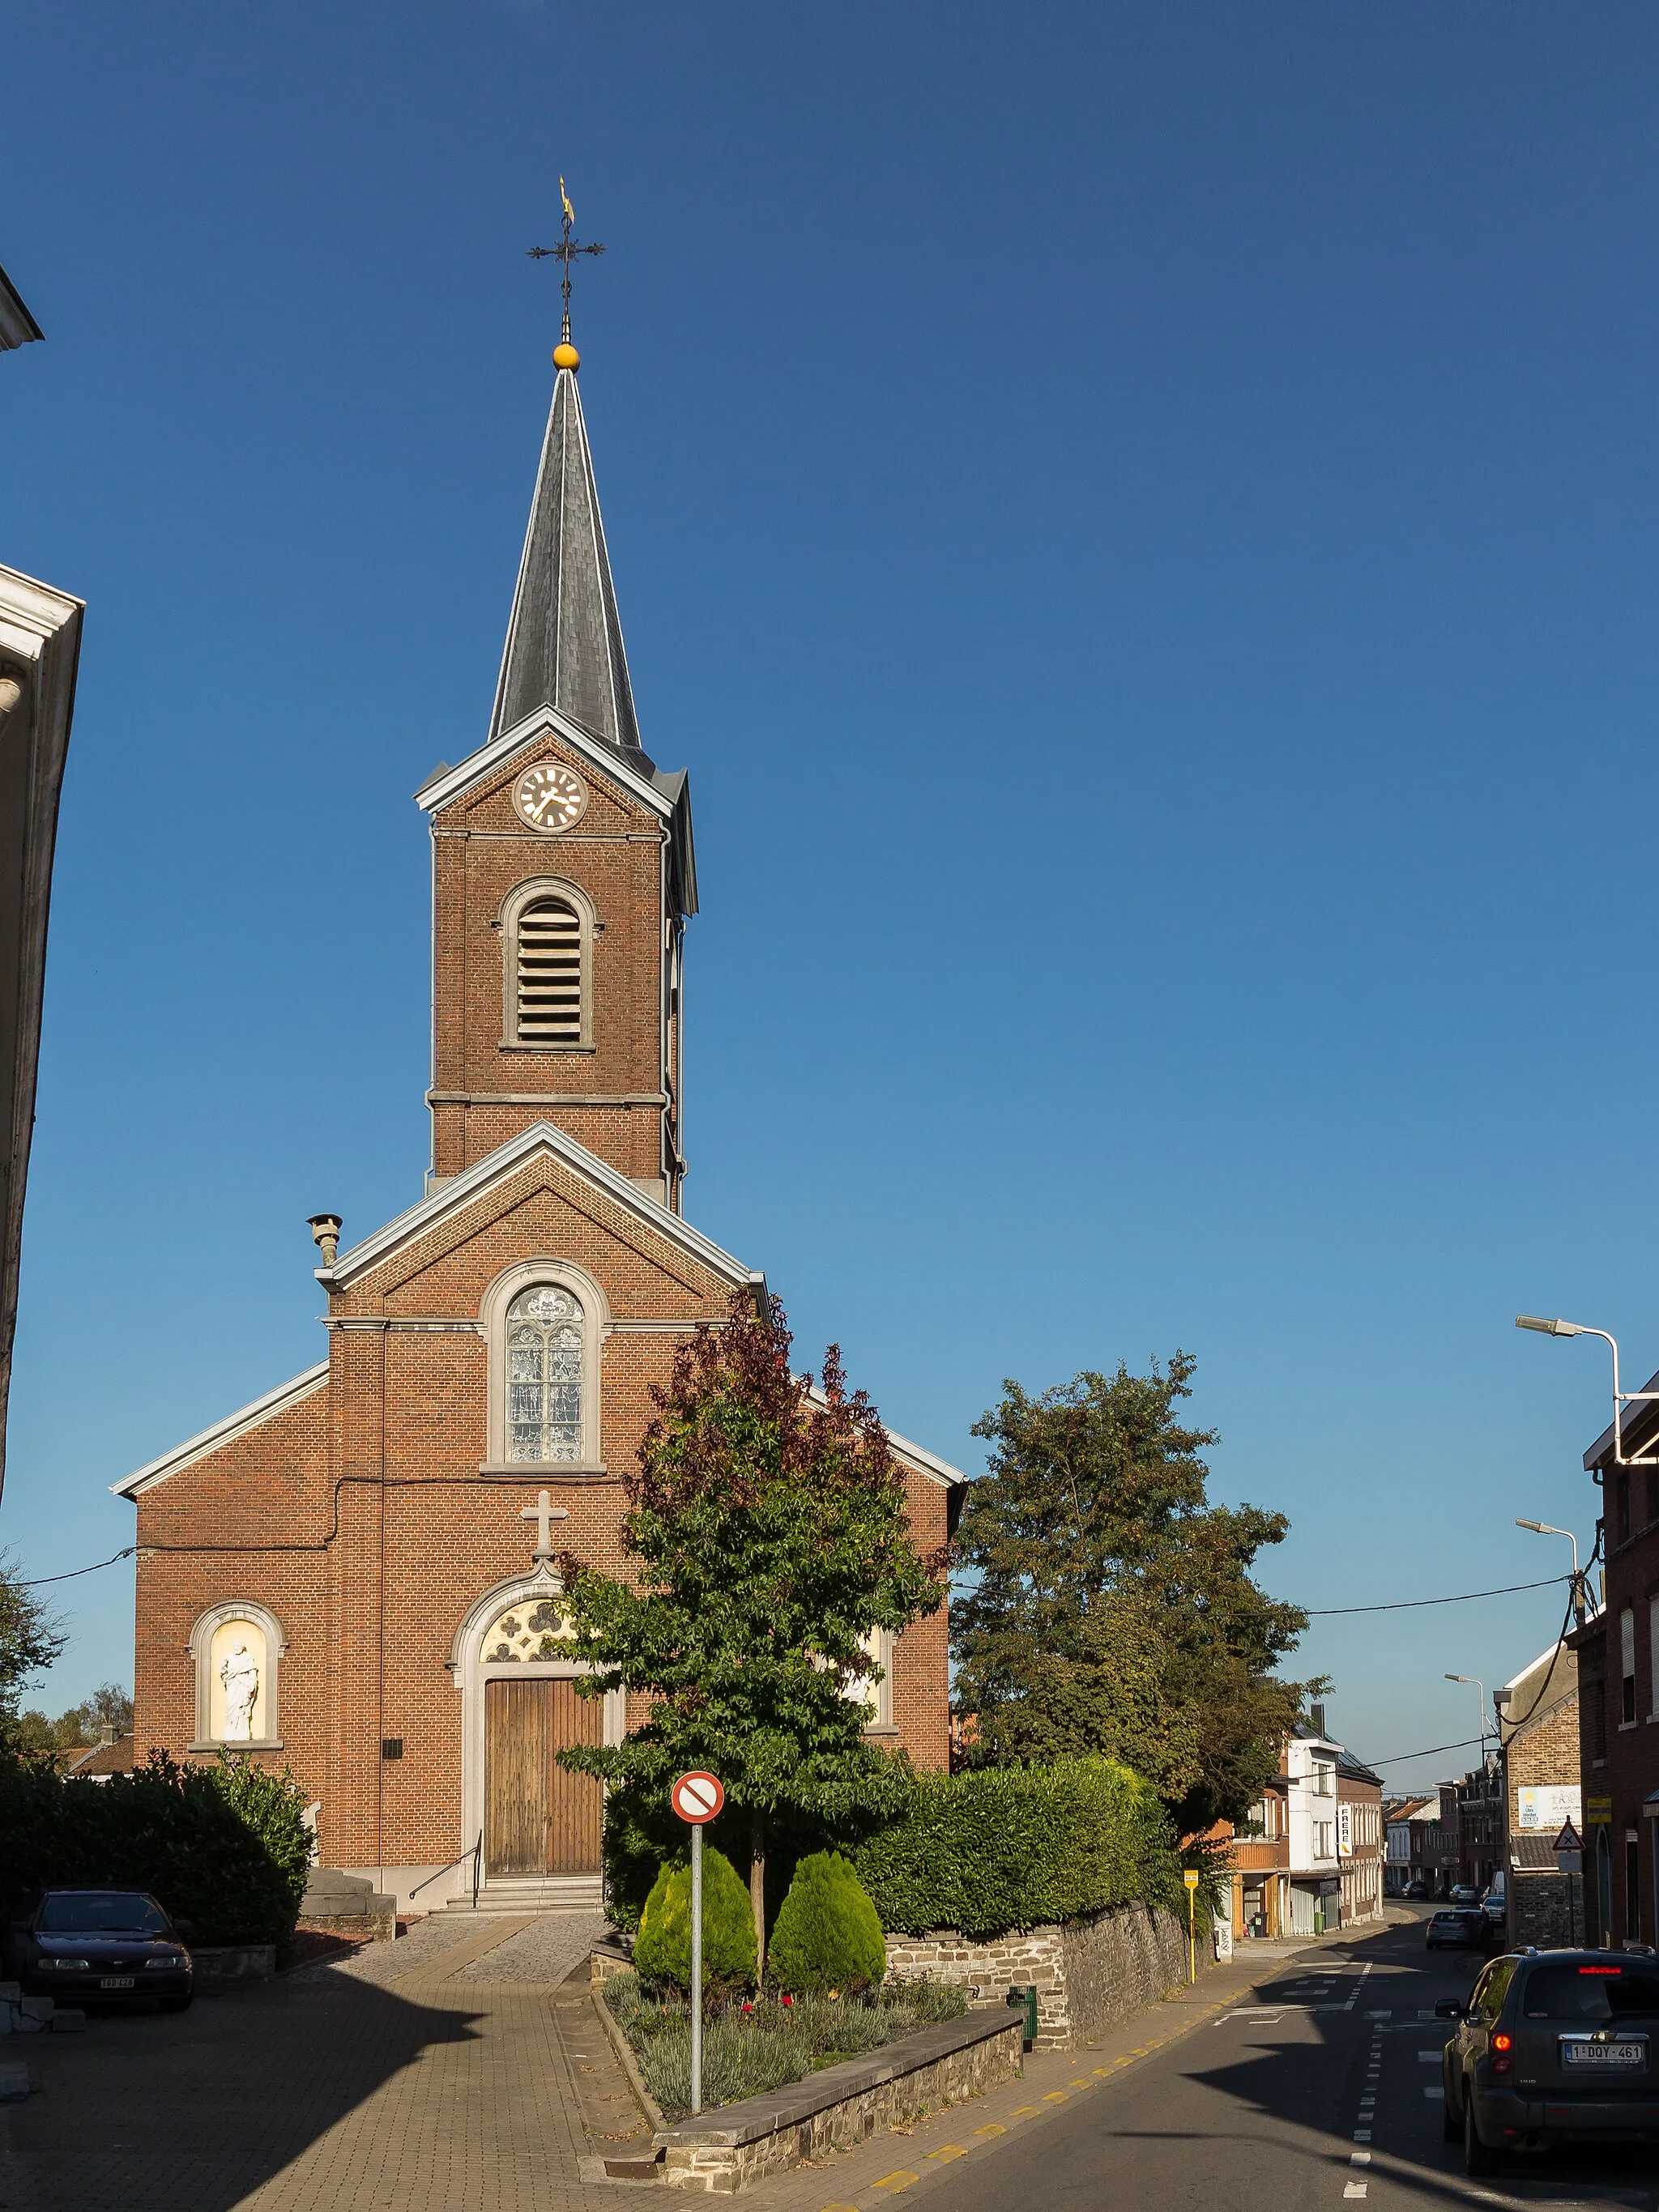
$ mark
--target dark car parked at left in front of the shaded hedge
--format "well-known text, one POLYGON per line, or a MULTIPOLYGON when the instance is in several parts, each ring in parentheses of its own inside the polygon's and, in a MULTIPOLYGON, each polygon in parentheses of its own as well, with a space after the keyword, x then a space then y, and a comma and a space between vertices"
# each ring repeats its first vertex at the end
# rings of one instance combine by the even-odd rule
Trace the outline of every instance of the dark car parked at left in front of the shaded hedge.
POLYGON ((179 1929, 144 1889, 38 1889, 4 1933, 7 1973, 33 1997, 119 2004, 157 1997, 181 2013, 195 1969, 179 1929))

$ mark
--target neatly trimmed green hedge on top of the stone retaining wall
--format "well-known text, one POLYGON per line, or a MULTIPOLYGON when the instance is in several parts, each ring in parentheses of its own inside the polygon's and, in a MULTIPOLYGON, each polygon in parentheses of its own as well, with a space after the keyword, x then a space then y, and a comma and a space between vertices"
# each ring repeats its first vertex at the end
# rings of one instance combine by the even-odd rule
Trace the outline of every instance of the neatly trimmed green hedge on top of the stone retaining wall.
POLYGON ((1186 1909, 1175 1825, 1115 1759, 918 1774, 909 1814, 852 1851, 880 1924, 991 1938, 1110 1905, 1186 1909))

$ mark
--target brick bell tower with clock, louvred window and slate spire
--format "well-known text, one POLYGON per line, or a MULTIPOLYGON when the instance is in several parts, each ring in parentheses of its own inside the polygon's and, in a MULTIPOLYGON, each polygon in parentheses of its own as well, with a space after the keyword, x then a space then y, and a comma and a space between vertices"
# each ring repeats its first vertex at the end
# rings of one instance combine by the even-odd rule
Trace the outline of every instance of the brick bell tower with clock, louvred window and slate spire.
POLYGON ((690 787, 639 741, 568 321, 553 363, 489 737, 416 792, 431 818, 429 1188, 553 1121, 679 1212, 690 787))

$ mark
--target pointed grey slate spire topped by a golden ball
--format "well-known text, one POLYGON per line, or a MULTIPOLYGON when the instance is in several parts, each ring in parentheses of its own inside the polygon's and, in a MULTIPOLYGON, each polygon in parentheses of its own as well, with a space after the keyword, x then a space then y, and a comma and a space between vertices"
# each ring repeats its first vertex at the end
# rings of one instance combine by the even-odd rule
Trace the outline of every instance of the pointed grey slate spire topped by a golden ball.
POLYGON ((489 734, 553 706, 648 776, 568 338, 560 354, 489 734))

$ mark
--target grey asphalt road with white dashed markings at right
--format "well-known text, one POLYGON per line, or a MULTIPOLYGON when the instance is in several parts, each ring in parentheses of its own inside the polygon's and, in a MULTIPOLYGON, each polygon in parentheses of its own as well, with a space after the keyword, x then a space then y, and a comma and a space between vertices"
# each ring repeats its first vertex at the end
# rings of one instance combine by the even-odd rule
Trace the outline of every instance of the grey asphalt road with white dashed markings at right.
MULTIPOLYGON (((1427 1918, 1427 1911, 1425 1911, 1427 1918)), ((1440 2137, 1436 1997, 1480 1960, 1425 1951, 1422 1927, 1318 1944, 1237 2011, 1179 2037, 1040 2132, 951 2168, 929 2212, 1376 2212, 1632 2205, 1659 2212, 1659 2152, 1509 2157, 1471 2181, 1440 2137), (1427 2017, 1425 2017, 1427 2015, 1427 2017)))

